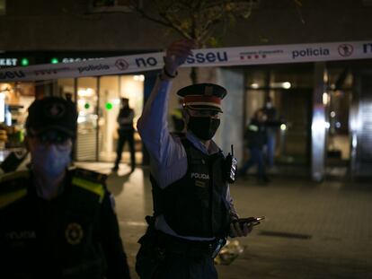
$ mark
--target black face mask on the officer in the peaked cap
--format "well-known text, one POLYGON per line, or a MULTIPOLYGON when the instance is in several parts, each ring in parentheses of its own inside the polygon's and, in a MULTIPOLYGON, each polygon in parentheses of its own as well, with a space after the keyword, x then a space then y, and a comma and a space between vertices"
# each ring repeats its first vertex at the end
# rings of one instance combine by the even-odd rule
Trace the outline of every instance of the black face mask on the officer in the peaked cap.
POLYGON ((188 127, 199 139, 208 141, 216 134, 219 123, 217 118, 190 117, 188 127))

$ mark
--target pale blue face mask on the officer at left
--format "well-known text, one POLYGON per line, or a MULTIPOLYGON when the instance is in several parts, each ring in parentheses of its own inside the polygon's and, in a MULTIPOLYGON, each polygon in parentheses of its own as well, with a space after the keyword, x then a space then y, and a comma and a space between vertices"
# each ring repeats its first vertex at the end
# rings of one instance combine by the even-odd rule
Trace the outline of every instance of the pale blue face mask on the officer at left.
POLYGON ((58 150, 58 147, 54 144, 50 145, 49 148, 37 147, 32 152, 32 167, 49 178, 58 177, 70 163, 70 153, 70 148, 58 150))

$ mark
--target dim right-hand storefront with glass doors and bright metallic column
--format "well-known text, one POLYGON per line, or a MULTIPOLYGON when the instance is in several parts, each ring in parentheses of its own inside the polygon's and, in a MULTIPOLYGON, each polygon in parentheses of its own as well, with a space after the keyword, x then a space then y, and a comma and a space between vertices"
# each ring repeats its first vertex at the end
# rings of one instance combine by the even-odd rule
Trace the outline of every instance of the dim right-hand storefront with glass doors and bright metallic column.
POLYGON ((318 80, 315 63, 246 66, 241 70, 245 80, 242 126, 270 96, 281 121, 276 127, 277 166, 303 166, 309 174, 318 169, 322 177, 370 176, 371 63, 327 62, 321 65, 318 80), (318 97, 320 104, 315 101, 318 97), (314 124, 319 106, 324 126, 314 124), (319 138, 316 129, 323 127, 325 134, 319 138))

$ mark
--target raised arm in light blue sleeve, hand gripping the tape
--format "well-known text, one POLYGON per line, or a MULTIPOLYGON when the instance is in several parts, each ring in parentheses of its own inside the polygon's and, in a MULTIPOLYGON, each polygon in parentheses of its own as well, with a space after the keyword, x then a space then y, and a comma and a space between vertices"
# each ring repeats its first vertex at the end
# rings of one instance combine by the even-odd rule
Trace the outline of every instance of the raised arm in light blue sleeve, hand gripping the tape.
POLYGON ((173 166, 173 163, 180 164, 180 173, 184 168, 187 168, 187 161, 182 162, 183 159, 186 160, 182 145, 175 143, 172 135, 170 135, 167 112, 168 95, 171 90, 172 80, 177 75, 178 67, 190 55, 192 47, 193 43, 190 40, 182 39, 173 42, 167 48, 163 72, 158 77, 155 87, 146 101, 142 116, 137 122, 138 133, 150 153, 152 168, 155 169, 153 171, 155 179, 156 176, 162 177, 157 180, 164 182, 164 186, 169 182, 173 182, 181 174, 173 172, 174 178, 167 177, 164 179, 164 175, 156 170, 166 171, 167 167, 173 166))

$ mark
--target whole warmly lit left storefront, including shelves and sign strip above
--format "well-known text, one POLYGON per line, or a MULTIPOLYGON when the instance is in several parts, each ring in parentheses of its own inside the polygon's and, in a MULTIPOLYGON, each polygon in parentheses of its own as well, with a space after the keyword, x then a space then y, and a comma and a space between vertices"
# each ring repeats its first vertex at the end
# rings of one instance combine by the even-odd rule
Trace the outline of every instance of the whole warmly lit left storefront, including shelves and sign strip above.
MULTIPOLYGON (((113 57, 123 53, 58 54, 40 53, 0 57, 1 67, 42 63, 70 63, 100 57, 113 57)), ((129 99, 135 111, 136 126, 143 104, 146 73, 104 75, 39 81, 32 83, 0 83, 0 161, 14 149, 23 148, 24 122, 27 108, 35 98, 43 96, 71 97, 79 113, 75 145, 77 161, 114 161, 117 144, 117 116, 120 98, 129 99)), ((154 74, 150 74, 150 79, 154 74)), ((140 138, 135 133, 137 161, 142 161, 140 138)), ((128 160, 127 147, 123 161, 128 160)))

